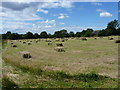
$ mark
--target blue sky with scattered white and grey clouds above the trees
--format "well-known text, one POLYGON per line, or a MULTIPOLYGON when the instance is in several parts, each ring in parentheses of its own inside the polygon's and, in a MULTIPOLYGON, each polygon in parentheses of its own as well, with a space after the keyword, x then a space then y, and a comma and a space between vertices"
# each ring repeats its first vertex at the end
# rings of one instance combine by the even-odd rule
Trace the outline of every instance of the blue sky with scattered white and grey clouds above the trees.
POLYGON ((118 2, 20 1, 0 2, 1 33, 102 30, 108 22, 118 19, 118 2))

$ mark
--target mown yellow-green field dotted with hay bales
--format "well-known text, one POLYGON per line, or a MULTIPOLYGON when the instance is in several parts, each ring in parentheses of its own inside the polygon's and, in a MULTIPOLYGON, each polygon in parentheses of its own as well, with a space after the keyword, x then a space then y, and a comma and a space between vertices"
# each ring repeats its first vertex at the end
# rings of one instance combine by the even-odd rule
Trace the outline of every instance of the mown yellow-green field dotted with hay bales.
POLYGON ((118 36, 113 37, 69 38, 62 42, 65 52, 54 50, 54 39, 52 45, 46 39, 12 40, 17 47, 8 40, 2 55, 3 77, 22 88, 117 88, 118 36), (22 58, 21 51, 30 52, 32 58, 22 58))

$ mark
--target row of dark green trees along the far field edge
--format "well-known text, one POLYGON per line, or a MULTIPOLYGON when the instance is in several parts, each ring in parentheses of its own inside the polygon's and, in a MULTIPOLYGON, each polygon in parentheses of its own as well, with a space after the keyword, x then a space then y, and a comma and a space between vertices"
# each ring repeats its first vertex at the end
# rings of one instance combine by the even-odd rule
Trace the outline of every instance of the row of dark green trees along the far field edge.
POLYGON ((111 36, 111 35, 120 35, 120 27, 118 20, 113 20, 108 23, 107 27, 103 30, 94 31, 91 28, 83 30, 82 32, 67 32, 63 29, 60 31, 54 32, 54 34, 48 34, 46 31, 41 32, 40 34, 32 32, 27 32, 26 34, 11 33, 8 31, 5 34, 2 34, 3 39, 37 39, 37 38, 64 38, 64 37, 92 37, 92 36, 111 36))

